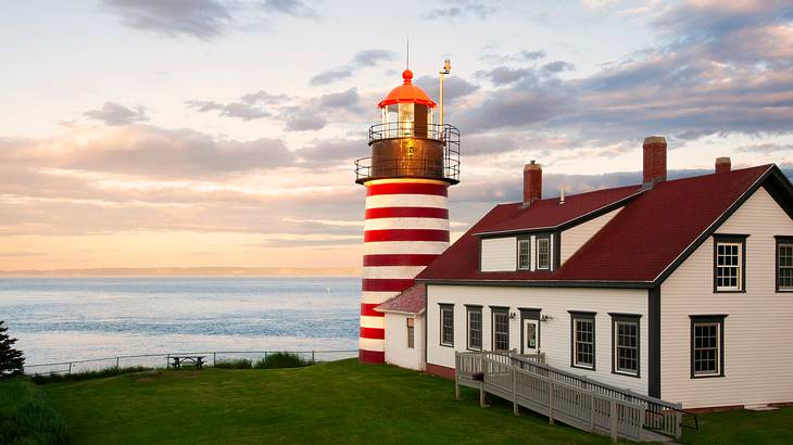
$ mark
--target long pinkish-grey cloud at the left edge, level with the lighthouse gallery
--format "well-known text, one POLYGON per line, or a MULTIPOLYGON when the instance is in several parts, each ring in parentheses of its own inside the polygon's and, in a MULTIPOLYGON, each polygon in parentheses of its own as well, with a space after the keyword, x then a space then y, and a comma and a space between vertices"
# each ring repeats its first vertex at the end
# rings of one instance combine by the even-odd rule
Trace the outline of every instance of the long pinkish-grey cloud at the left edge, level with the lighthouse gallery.
POLYGON ((293 155, 278 139, 215 139, 191 129, 150 125, 70 128, 53 138, 0 140, 0 163, 9 166, 101 171, 143 177, 216 177, 290 165, 293 155))

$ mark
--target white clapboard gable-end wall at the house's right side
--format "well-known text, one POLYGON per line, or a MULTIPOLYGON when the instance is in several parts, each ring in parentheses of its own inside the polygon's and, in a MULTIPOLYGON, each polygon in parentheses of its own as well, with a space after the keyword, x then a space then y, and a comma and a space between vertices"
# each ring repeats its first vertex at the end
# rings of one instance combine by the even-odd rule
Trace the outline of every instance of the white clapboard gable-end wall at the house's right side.
POLYGON ((764 189, 716 233, 746 239, 746 292, 713 293, 713 238, 662 285, 662 398, 687 407, 793 402, 793 294, 775 291, 775 236, 793 221, 764 189), (725 376, 691 379, 689 315, 727 314, 725 376))

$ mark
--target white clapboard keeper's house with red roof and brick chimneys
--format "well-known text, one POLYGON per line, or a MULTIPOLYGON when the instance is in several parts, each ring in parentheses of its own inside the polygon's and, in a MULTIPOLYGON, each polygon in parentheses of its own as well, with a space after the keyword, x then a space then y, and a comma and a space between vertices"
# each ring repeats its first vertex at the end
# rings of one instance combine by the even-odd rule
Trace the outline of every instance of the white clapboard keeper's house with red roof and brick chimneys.
MULTIPOLYGON (((567 198, 541 199, 527 165, 524 202, 496 205, 416 277, 426 305, 385 307, 426 319, 421 356, 400 359, 453 377, 455 351, 542 352, 685 408, 793 402, 793 187, 776 165, 723 157, 666 180, 665 139, 643 149, 642 185, 567 198)), ((412 326, 394 320, 387 357, 412 326)))

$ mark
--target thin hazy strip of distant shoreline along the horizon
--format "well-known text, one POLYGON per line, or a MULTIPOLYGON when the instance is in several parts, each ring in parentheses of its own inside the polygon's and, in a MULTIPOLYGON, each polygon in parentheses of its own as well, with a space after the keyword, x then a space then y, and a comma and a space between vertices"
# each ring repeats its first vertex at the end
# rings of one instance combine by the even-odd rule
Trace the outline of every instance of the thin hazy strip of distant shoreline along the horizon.
POLYGON ((89 269, 0 270, 0 278, 124 278, 124 277, 361 277, 360 268, 322 267, 106 267, 89 269))

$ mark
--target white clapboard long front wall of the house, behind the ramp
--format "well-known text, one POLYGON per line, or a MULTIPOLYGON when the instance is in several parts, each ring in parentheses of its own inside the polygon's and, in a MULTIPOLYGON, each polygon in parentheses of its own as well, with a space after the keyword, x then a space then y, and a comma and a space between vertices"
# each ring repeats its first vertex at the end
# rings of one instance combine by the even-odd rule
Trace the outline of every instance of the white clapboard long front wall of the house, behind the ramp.
POLYGON ((454 368, 454 351, 465 351, 466 304, 482 307, 482 344, 492 349, 492 318, 488 306, 508 306, 509 347, 520 351, 520 312, 540 308, 552 317, 540 322, 540 349, 547 364, 591 379, 647 393, 647 291, 640 289, 520 288, 490 285, 440 285, 427 288, 427 363, 454 368), (454 347, 440 345, 440 303, 454 304, 454 347), (595 312, 595 370, 570 367, 570 314, 595 312), (612 317, 608 313, 639 314, 640 378, 612 373, 612 317))

